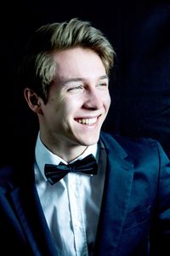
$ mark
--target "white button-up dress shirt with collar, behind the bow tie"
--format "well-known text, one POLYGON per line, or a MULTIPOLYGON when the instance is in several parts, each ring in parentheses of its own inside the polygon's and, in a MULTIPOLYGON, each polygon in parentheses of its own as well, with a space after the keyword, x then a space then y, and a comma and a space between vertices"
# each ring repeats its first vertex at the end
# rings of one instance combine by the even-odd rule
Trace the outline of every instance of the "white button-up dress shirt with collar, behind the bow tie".
MULTIPOLYGON (((77 159, 88 154, 98 161, 99 145, 89 146, 77 159)), ((35 156, 37 192, 57 252, 60 256, 93 255, 105 168, 99 168, 94 176, 68 173, 51 185, 44 175, 45 164, 67 163, 43 145, 39 134, 35 156)))

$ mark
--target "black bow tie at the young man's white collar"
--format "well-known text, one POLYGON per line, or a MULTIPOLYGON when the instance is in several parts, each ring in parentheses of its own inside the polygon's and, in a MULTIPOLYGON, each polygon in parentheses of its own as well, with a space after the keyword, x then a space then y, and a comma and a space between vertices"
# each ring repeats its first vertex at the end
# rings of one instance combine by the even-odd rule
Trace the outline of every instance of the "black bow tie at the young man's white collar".
POLYGON ((82 160, 76 160, 72 164, 65 165, 60 162, 59 165, 45 165, 44 172, 48 182, 52 185, 65 177, 68 172, 82 172, 85 174, 97 174, 98 164, 93 154, 89 154, 82 160))

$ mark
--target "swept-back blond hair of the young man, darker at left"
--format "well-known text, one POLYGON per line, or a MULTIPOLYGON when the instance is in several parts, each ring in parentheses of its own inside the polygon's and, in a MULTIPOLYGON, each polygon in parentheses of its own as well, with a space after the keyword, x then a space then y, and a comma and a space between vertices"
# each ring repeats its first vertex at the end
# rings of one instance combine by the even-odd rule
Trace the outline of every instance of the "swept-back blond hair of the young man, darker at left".
POLYGON ((101 58, 106 73, 110 73, 115 55, 111 43, 90 22, 74 18, 41 26, 34 32, 20 64, 22 86, 31 88, 46 101, 56 75, 54 52, 77 46, 94 50, 101 58))

